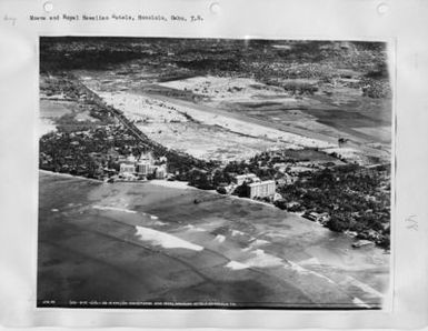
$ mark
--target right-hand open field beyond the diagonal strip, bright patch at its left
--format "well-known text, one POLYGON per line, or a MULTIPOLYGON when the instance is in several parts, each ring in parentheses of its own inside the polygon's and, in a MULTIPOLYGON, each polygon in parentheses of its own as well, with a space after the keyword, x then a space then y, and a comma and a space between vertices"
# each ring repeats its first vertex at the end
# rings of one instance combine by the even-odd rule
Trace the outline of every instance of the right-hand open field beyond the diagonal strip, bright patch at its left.
MULTIPOLYGON (((299 79, 288 80, 300 82, 299 79)), ((305 80, 316 84, 317 81, 305 80)), ((391 142, 390 100, 361 97, 358 89, 340 84, 313 96, 295 98, 283 90, 255 81, 233 78, 198 77, 161 83, 163 87, 202 93, 200 101, 211 108, 223 109, 242 117, 271 123, 283 131, 337 142, 345 138, 354 142, 357 152, 376 156, 378 151, 364 148, 367 143, 391 142), (245 117, 243 117, 245 116, 245 117), (378 131, 377 128, 382 130, 378 131), (361 148, 358 148, 361 147, 361 148)), ((321 84, 322 86, 322 84, 321 84)), ((386 159, 389 157, 384 156, 386 159)))

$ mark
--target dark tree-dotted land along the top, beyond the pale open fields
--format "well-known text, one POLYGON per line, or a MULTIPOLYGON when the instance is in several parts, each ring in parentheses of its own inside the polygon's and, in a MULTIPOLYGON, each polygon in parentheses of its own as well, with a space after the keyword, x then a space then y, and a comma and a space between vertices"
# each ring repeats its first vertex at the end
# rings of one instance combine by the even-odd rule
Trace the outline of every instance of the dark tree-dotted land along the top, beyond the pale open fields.
POLYGON ((293 94, 311 94, 317 84, 355 78, 362 96, 390 93, 381 42, 67 37, 41 38, 40 57, 42 73, 101 70, 133 60, 156 69, 158 81, 200 74, 248 77, 293 94))

